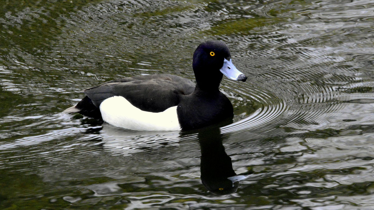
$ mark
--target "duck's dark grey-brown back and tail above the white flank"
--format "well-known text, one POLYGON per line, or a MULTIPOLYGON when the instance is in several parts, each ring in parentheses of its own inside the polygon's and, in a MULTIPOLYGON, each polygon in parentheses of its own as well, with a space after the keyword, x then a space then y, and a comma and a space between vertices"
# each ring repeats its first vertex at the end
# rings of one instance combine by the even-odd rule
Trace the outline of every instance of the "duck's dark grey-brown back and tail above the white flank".
POLYGON ((177 106, 180 95, 191 94, 194 88, 192 81, 170 74, 126 77, 83 90, 86 97, 70 110, 101 118, 101 103, 113 96, 121 96, 142 111, 163 112, 177 106))

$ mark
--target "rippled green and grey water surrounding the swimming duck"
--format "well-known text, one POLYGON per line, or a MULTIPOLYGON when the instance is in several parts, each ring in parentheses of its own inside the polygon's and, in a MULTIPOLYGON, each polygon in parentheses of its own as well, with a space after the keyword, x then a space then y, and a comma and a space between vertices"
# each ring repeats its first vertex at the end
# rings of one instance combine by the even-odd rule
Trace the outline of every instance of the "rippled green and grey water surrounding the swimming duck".
POLYGON ((372 0, 1 0, 0 209, 374 209, 373 14, 372 0), (61 114, 117 77, 193 80, 206 39, 249 77, 221 83, 233 124, 61 114))

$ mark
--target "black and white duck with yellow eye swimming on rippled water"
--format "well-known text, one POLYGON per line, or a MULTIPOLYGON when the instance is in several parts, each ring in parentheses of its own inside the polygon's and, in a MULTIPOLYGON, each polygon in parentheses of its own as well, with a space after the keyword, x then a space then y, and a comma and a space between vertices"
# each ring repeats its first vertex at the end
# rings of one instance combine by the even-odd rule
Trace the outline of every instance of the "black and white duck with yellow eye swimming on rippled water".
POLYGON ((194 130, 233 119, 233 106, 220 90, 223 75, 247 77, 233 65, 224 41, 199 44, 192 62, 196 84, 172 74, 119 78, 82 90, 85 97, 64 113, 79 113, 131 130, 194 130))

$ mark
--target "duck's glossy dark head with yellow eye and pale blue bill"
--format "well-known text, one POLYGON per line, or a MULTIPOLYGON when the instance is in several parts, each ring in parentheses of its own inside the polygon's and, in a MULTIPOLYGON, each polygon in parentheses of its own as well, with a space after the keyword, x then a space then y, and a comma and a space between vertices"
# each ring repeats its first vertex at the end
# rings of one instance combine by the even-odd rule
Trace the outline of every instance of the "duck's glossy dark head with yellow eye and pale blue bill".
POLYGON ((245 81, 247 77, 233 65, 229 47, 219 40, 209 40, 201 43, 193 53, 193 71, 196 82, 206 81, 220 83, 225 75, 231 80, 245 81))

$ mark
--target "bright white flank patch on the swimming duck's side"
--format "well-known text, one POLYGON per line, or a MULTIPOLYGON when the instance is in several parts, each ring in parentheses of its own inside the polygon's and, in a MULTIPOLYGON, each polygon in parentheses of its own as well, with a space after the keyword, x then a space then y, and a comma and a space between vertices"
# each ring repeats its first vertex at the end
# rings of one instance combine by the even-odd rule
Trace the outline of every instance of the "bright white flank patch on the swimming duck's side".
POLYGON ((114 126, 131 130, 180 130, 177 106, 163 112, 146 112, 122 96, 113 96, 100 104, 102 119, 114 126))

